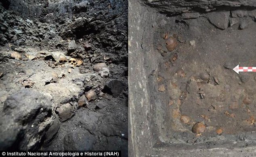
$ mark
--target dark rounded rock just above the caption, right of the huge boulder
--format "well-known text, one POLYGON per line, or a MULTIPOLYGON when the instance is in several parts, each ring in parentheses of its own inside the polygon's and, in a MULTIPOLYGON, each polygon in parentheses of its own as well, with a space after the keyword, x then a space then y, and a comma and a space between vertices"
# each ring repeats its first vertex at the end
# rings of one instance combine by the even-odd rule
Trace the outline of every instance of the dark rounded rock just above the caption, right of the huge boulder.
POLYGON ((65 151, 92 151, 96 138, 85 130, 76 130, 65 135, 63 147, 65 151))

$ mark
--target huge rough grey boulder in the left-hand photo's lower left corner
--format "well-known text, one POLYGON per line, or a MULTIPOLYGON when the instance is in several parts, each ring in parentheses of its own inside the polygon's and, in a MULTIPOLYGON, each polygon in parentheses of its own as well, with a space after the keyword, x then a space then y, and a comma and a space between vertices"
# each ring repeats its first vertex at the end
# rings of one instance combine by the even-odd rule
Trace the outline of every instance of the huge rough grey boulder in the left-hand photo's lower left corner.
POLYGON ((53 106, 45 95, 31 89, 10 95, 0 121, 0 149, 38 150, 47 132, 55 134, 59 128, 54 124, 53 106), (53 125, 57 127, 51 130, 53 125))

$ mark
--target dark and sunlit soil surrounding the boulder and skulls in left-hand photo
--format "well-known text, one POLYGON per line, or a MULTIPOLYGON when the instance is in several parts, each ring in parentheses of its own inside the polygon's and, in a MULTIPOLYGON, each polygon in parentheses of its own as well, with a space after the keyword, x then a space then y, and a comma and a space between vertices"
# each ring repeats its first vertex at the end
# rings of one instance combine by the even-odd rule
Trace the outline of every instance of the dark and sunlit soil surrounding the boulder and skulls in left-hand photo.
POLYGON ((56 109, 64 104, 73 107, 58 133, 50 143, 40 145, 40 150, 122 150, 122 156, 127 156, 128 2, 1 2, 1 112, 8 95, 32 88, 52 99, 57 115, 56 109), (11 56, 14 52, 21 54, 21 60, 11 56), (60 56, 67 60, 62 61, 60 56), (101 62, 107 65, 107 75, 92 68, 101 62), (90 90, 97 98, 84 100, 86 105, 78 107, 80 97, 90 90), (86 139, 94 142, 86 143, 85 148, 71 132, 88 134, 90 138, 86 139), (74 140, 64 141, 67 137, 74 140))

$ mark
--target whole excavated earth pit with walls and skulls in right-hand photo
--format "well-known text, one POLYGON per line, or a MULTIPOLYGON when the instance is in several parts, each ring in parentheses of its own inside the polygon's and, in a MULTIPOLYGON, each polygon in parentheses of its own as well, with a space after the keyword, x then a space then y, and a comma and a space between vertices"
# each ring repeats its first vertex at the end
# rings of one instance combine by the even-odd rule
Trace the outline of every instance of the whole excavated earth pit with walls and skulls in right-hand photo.
POLYGON ((130 153, 255 148, 256 71, 233 68, 256 67, 256 3, 138 0, 129 17, 130 153))

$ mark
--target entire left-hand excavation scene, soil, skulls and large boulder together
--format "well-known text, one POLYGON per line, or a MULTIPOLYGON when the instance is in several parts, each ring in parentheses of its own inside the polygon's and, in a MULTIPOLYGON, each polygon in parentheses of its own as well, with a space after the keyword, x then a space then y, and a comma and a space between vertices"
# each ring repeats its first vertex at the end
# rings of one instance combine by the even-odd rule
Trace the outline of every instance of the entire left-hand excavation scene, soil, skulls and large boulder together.
POLYGON ((0 3, 1 150, 128 151, 128 3, 0 3))

